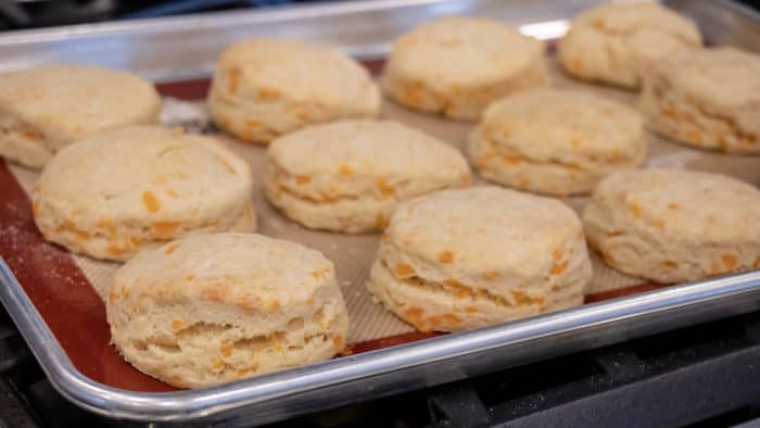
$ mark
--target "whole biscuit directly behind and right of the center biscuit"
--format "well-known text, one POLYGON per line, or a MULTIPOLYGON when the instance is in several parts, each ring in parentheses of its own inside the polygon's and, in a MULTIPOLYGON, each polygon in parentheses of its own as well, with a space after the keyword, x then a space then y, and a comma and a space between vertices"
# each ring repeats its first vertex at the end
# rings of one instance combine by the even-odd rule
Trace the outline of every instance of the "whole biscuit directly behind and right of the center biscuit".
POLYGON ((494 102, 470 135, 480 175, 521 190, 588 193, 606 175, 646 156, 635 110, 581 91, 539 89, 494 102))

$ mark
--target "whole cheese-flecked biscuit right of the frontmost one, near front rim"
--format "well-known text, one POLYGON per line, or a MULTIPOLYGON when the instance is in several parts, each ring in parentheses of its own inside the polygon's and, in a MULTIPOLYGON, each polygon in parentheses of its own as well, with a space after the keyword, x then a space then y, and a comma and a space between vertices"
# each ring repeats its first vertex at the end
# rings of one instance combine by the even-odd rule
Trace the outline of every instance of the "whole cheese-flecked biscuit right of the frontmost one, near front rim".
POLYGON ((368 288, 422 331, 459 331, 577 306, 591 276, 570 207, 479 186, 401 204, 368 288))

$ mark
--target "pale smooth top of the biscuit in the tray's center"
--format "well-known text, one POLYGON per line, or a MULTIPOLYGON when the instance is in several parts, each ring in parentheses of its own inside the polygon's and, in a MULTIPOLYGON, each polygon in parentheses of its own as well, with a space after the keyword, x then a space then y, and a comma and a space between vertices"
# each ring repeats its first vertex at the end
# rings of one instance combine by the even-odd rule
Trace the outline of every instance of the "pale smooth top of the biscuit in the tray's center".
POLYGON ((435 177, 469 174, 453 147, 393 121, 341 121, 275 140, 269 156, 291 174, 435 177))

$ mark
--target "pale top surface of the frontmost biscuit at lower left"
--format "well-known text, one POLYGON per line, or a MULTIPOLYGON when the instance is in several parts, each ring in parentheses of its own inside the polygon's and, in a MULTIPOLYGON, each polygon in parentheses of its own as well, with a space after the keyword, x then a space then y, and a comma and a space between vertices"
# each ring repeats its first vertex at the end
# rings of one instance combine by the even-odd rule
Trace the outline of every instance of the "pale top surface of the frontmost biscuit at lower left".
POLYGON ((300 243, 257 234, 214 234, 143 250, 116 273, 112 290, 121 298, 147 293, 161 301, 278 311, 306 303, 334 281, 332 262, 300 243))

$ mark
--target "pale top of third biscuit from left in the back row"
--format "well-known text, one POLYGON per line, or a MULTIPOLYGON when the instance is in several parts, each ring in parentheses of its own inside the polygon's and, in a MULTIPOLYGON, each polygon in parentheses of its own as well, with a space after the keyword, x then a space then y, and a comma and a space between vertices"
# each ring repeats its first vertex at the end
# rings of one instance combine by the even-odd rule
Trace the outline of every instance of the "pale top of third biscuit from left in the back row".
POLYGON ((495 21, 442 17, 396 40, 388 67, 451 90, 497 83, 524 70, 543 54, 540 40, 520 35, 495 21))

